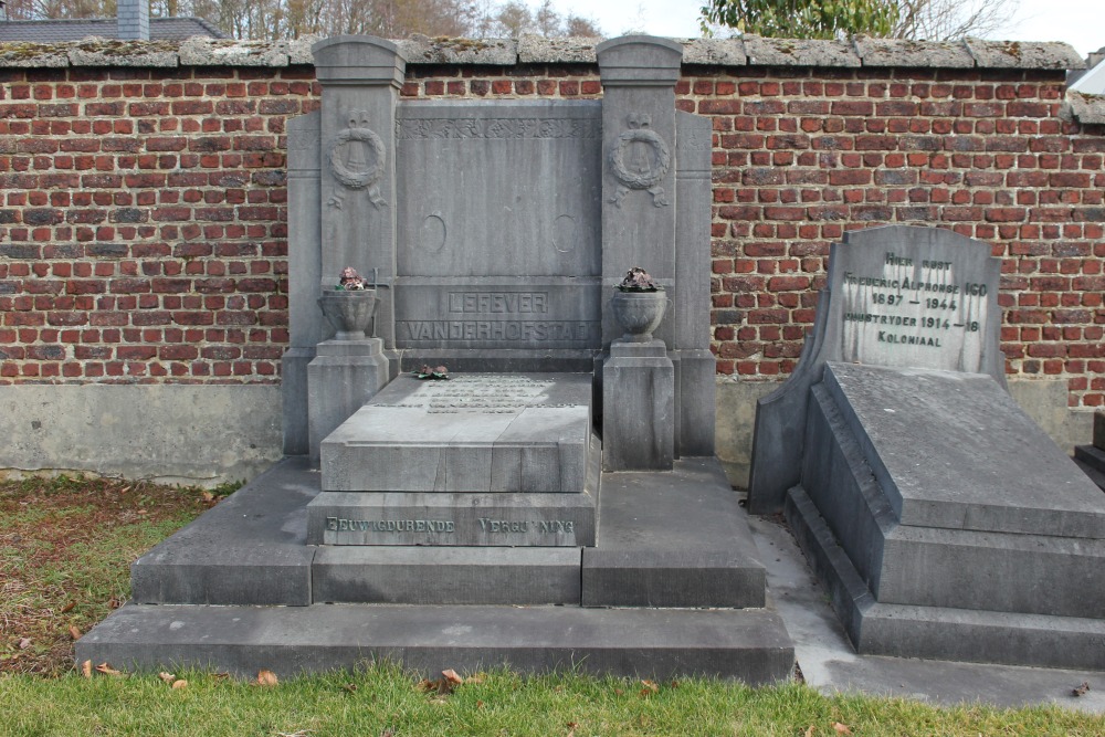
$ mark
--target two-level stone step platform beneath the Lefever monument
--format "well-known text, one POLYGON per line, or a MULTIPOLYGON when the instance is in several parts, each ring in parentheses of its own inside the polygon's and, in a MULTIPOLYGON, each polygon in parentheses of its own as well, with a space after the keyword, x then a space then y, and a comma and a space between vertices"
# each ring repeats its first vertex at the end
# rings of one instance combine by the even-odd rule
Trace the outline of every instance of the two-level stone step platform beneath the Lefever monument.
POLYGON ((285 459, 143 556, 134 601, 76 656, 243 675, 389 657, 425 672, 789 677, 792 644, 716 460, 602 484, 593 548, 313 546, 319 474, 285 459))

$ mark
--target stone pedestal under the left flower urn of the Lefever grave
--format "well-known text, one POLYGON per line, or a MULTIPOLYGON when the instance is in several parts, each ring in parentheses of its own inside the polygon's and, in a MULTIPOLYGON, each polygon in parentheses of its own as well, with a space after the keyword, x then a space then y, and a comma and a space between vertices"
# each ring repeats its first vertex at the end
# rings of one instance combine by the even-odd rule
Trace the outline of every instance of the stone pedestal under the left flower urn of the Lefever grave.
POLYGON ((383 340, 324 340, 307 366, 307 415, 311 462, 318 465, 318 448, 388 383, 383 340))

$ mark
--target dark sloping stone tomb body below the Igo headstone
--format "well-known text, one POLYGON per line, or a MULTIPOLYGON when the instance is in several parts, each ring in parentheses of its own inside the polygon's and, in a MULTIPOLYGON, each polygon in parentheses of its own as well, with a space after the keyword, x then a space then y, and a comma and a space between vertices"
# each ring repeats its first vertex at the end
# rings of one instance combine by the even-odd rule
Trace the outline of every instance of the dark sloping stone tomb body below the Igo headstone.
POLYGON ((1105 667, 1105 497, 989 376, 827 364, 785 510, 860 653, 1105 667))

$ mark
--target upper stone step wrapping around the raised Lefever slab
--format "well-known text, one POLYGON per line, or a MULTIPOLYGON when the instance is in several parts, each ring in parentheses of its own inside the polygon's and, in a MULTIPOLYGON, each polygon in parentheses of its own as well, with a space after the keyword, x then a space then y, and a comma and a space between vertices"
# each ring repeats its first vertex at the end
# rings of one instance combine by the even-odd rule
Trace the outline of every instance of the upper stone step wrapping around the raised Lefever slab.
POLYGON ((744 513, 714 460, 603 476, 597 547, 313 546, 318 493, 286 459, 131 568, 139 603, 764 606, 744 513), (492 597, 490 600, 482 597, 492 597))

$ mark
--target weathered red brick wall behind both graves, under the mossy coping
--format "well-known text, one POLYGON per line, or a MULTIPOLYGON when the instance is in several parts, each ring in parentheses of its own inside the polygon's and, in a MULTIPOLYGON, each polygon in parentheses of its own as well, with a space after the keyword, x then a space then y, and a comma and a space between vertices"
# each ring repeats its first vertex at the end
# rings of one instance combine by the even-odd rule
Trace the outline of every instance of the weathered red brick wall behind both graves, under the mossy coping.
MULTIPOLYGON (((0 382, 278 381, 284 122, 309 66, 0 70, 0 382)), ((590 64, 412 65, 419 98, 597 97, 590 64)), ((713 118, 718 371, 774 380, 829 243, 885 223, 993 244, 1008 372, 1105 403, 1105 126, 1063 73, 686 66, 713 118)))

